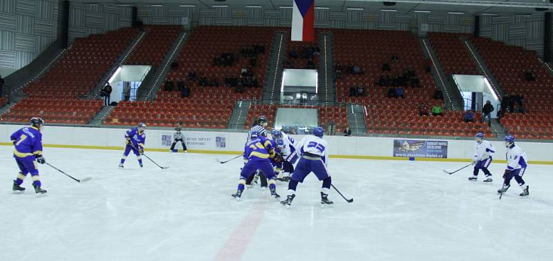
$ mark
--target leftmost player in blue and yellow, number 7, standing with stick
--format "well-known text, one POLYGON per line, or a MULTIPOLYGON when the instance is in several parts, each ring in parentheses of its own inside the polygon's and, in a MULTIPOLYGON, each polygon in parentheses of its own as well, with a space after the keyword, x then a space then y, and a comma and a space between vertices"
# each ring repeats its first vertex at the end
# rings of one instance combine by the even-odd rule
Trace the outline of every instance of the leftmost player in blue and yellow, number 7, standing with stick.
POLYGON ((41 182, 39 177, 39 171, 37 169, 37 162, 40 164, 46 163, 42 156, 42 128, 44 121, 41 118, 33 117, 30 119, 31 126, 21 128, 10 137, 13 145, 13 157, 17 166, 19 167, 19 174, 13 181, 12 190, 15 193, 21 193, 25 191, 25 188, 21 186, 23 180, 30 173, 32 177, 32 186, 35 188, 37 195, 46 195, 46 190, 41 189, 41 182))

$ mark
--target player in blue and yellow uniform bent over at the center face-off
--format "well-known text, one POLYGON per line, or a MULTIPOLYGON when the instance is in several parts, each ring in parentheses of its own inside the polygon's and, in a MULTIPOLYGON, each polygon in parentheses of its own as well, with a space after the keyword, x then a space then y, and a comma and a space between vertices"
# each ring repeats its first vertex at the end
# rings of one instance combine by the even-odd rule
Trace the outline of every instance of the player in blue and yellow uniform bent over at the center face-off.
POLYGON ((232 194, 232 197, 239 200, 244 191, 246 180, 255 175, 256 171, 261 171, 268 179, 272 197, 279 198, 280 195, 277 194, 277 182, 275 181, 276 178, 274 177, 274 171, 270 162, 270 158, 274 157, 274 148, 271 142, 257 133, 257 131, 252 131, 250 137, 250 141, 244 146, 244 160, 247 162, 240 173, 238 189, 236 193, 232 194))

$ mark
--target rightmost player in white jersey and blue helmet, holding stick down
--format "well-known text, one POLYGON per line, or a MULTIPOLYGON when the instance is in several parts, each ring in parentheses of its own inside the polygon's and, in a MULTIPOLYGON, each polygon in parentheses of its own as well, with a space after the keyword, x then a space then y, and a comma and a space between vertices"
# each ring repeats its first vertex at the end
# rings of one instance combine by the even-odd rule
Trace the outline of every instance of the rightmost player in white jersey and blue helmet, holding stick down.
POLYGON ((511 186, 511 180, 514 177, 518 186, 521 187, 523 192, 520 194, 521 197, 529 195, 529 187, 523 180, 523 175, 528 166, 526 153, 518 145, 514 144, 514 136, 507 135, 505 136, 505 147, 507 148, 507 168, 505 168, 505 173, 503 174, 503 187, 497 191, 497 193, 505 193, 507 189, 511 186))

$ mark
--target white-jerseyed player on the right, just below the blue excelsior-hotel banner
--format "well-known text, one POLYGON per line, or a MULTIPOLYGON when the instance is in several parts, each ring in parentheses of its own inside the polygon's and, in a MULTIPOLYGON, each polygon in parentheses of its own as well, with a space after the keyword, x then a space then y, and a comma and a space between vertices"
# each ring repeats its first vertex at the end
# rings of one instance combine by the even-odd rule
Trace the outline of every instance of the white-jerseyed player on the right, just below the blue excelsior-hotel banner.
POLYGON ((476 144, 474 145, 474 157, 472 158, 472 164, 474 165, 474 171, 472 177, 469 180, 476 181, 478 179, 478 171, 480 169, 486 175, 484 182, 492 182, 491 173, 488 170, 489 164, 491 164, 492 157, 496 152, 496 148, 490 142, 484 139, 484 133, 476 134, 476 144))

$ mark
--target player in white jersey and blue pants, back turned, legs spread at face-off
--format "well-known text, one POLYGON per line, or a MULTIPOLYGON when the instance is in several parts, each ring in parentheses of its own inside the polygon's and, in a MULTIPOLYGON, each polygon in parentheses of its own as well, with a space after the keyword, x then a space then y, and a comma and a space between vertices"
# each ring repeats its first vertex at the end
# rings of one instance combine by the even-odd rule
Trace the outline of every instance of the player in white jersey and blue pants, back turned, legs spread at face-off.
POLYGON ((303 182, 309 173, 314 173, 319 180, 323 182, 321 189, 321 206, 330 205, 333 202, 328 200, 328 193, 330 192, 330 185, 332 179, 330 174, 326 170, 328 161, 326 160, 326 151, 328 145, 326 140, 323 139, 323 128, 315 127, 313 135, 303 137, 298 144, 298 148, 301 152, 301 159, 292 173, 290 182, 288 182, 288 197, 286 200, 281 201, 281 204, 287 208, 296 197, 296 188, 299 182, 303 182))

